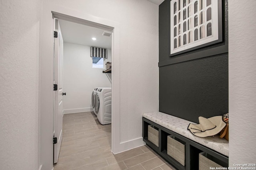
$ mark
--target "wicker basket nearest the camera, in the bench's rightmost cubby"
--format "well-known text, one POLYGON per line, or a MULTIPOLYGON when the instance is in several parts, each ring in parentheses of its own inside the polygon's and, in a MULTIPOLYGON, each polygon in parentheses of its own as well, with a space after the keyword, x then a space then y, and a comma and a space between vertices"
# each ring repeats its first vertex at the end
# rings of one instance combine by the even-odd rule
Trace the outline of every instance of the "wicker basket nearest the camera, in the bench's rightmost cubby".
POLYGON ((216 161, 218 160, 213 156, 207 154, 206 152, 201 152, 199 154, 199 170, 209 170, 210 167, 223 168, 223 166, 217 164, 216 161))

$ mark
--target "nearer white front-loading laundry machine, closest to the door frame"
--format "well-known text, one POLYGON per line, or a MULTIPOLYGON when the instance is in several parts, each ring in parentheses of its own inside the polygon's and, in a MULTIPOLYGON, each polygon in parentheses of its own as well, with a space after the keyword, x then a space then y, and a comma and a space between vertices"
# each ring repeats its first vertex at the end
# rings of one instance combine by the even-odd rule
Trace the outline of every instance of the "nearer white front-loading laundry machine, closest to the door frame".
POLYGON ((112 88, 98 88, 95 96, 95 112, 102 125, 111 123, 112 88))

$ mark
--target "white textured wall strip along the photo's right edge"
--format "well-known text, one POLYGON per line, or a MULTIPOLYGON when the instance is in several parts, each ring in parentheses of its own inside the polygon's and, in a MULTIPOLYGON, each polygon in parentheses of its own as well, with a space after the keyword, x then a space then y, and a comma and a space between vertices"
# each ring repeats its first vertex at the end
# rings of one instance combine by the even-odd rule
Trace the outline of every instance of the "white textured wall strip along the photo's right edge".
POLYGON ((256 160, 256 1, 228 2, 229 166, 256 160))

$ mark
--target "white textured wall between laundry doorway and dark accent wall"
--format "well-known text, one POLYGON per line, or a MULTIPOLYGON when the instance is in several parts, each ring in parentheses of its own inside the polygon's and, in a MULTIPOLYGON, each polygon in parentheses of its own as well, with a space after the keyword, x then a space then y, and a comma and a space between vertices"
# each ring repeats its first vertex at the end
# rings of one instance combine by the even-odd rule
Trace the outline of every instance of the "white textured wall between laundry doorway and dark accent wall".
POLYGON ((147 0, 46 2, 120 24, 120 141, 141 138, 142 113, 158 111, 158 6, 147 0))

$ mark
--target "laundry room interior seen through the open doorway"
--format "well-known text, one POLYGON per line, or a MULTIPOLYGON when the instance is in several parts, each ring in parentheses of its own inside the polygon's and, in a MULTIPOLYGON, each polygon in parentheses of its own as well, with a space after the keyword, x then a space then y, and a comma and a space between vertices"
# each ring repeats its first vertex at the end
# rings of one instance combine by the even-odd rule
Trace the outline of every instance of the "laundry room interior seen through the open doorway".
POLYGON ((84 158, 110 150, 112 102, 111 31, 58 21, 63 37, 64 114, 55 168, 74 154, 84 158))

